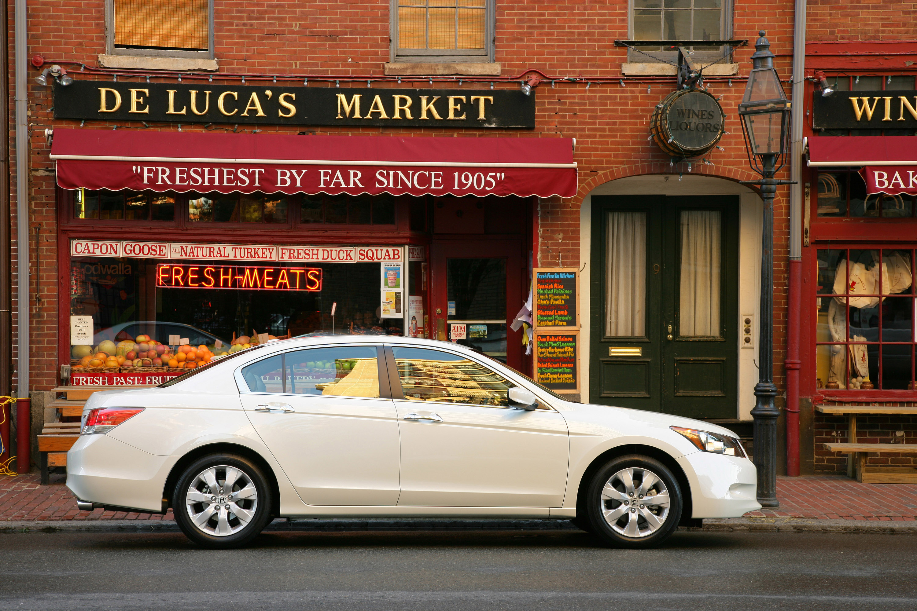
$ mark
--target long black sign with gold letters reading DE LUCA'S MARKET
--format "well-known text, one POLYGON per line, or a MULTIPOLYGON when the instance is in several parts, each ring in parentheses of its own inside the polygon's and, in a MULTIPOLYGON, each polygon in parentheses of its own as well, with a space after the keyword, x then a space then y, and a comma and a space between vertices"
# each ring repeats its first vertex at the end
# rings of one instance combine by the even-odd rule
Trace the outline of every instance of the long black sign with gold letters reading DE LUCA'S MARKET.
POLYGON ((256 125, 535 128, 535 93, 505 89, 260 87, 213 82, 54 85, 55 119, 256 125))

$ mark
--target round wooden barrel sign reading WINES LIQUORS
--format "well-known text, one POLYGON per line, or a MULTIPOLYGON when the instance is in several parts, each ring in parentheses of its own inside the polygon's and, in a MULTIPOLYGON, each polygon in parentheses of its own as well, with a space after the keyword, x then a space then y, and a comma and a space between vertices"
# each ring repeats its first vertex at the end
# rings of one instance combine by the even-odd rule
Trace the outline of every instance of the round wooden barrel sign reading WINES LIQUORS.
POLYGON ((702 89, 669 93, 649 119, 649 133, 669 157, 702 157, 720 141, 725 130, 723 107, 702 89))

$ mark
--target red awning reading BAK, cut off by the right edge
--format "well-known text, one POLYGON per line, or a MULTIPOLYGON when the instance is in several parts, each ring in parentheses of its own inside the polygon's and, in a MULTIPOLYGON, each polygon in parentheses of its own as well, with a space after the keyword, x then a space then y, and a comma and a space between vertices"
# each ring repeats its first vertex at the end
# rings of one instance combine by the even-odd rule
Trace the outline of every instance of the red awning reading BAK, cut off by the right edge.
POLYGON ((917 136, 816 136, 809 138, 809 165, 865 166, 867 195, 917 195, 917 136))

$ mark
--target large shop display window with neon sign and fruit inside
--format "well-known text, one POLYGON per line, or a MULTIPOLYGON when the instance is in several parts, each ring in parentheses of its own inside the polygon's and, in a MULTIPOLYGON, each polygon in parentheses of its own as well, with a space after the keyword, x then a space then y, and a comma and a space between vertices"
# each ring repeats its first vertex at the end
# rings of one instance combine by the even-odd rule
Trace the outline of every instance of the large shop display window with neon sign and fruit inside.
POLYGON ((72 359, 113 355, 120 342, 204 345, 204 355, 221 355, 265 335, 402 335, 400 272, 390 272, 397 290, 386 292, 383 267, 398 269, 380 262, 73 257, 70 313, 92 317, 93 344, 72 346, 72 359))

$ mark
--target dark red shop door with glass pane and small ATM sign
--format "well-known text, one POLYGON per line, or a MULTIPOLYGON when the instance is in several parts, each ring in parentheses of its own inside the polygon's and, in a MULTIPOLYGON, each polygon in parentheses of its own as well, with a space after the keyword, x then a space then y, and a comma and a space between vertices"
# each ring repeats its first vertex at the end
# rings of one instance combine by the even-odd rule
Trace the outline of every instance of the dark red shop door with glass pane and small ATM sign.
POLYGON ((509 326, 509 319, 525 301, 525 263, 520 243, 514 240, 434 242, 431 258, 430 337, 477 347, 520 369, 522 332, 514 332, 509 326), (461 338, 462 330, 464 338, 461 338))

